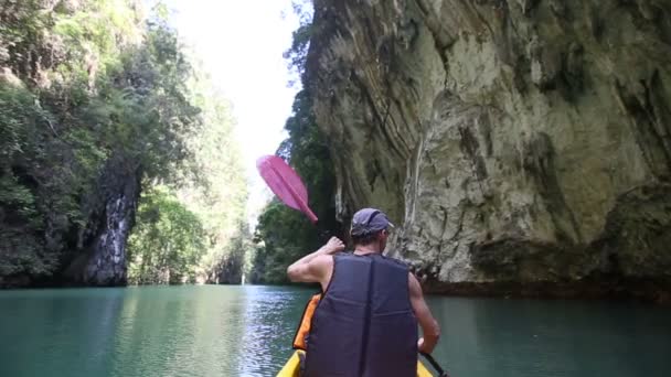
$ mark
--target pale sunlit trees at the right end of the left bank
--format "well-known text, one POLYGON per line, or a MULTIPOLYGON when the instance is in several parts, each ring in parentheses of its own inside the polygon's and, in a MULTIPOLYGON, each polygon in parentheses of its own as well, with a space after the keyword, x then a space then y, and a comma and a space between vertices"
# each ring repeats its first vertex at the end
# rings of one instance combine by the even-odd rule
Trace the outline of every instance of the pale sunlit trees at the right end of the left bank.
POLYGON ((179 187, 178 197, 204 227, 199 280, 239 283, 251 235, 245 224, 247 183, 233 134, 235 121, 231 105, 212 89, 207 77, 193 78, 192 94, 203 119, 201 131, 189 141, 198 176, 179 187))

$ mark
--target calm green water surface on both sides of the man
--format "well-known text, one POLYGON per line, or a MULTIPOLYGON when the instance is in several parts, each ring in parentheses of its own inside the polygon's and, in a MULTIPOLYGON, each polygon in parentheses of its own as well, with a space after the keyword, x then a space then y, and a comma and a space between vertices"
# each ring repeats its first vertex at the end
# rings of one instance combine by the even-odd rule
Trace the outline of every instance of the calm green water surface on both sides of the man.
MULTIPOLYGON (((274 376, 311 292, 0 292, 0 376, 274 376)), ((430 298, 452 377, 671 376, 671 309, 430 298)))

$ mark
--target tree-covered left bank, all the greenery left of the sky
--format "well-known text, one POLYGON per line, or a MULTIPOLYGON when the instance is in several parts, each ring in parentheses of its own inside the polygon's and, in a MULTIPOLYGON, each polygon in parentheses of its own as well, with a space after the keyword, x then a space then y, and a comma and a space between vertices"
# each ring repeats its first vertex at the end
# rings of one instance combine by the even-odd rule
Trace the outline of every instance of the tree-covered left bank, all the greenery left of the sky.
POLYGON ((0 286, 77 280, 109 233, 130 228, 141 191, 131 281, 236 263, 226 245, 245 231, 246 188, 228 107, 161 7, 141 9, 0 0, 0 286), (108 195, 118 182, 132 190, 108 195), (125 216, 110 217, 115 201, 125 216))

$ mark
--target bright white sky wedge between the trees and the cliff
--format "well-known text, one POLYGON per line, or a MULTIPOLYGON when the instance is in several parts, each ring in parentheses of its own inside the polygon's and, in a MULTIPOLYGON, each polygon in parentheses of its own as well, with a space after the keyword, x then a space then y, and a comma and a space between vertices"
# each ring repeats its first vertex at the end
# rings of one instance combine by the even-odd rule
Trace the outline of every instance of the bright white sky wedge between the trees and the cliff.
POLYGON ((233 103, 237 138, 251 183, 249 216, 271 193, 256 172, 256 159, 285 139, 285 121, 298 88, 283 53, 298 28, 291 0, 169 0, 172 23, 233 103))

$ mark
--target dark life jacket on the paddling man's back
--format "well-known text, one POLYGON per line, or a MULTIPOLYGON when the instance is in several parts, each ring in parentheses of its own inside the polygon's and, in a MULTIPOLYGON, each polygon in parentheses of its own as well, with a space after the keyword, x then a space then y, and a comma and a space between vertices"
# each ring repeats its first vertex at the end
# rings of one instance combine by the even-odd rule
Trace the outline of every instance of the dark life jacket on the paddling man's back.
POLYGON ((312 316, 305 376, 414 377, 417 335, 407 266, 377 254, 337 255, 312 316))

